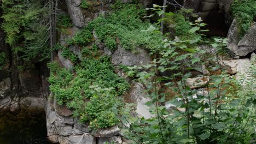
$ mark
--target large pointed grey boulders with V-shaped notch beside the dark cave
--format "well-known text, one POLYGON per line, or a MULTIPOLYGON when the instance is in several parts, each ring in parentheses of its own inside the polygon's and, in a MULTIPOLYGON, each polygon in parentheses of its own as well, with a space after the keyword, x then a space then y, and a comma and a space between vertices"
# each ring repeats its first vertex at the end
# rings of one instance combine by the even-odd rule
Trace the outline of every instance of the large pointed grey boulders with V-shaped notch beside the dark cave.
POLYGON ((256 50, 256 22, 239 41, 236 19, 233 20, 228 33, 228 49, 237 56, 246 56, 256 50))

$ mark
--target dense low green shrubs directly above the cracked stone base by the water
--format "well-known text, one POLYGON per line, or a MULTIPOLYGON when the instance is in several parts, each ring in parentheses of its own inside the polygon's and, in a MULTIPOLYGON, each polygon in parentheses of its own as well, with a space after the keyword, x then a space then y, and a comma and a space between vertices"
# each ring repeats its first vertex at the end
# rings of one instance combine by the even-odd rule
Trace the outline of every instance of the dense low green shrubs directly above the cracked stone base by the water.
POLYGON ((119 101, 118 95, 129 85, 114 74, 108 58, 85 58, 74 68, 74 73, 65 68, 57 69, 55 64, 50 65, 53 71, 49 82, 58 104, 74 110, 73 116, 80 117, 82 123, 88 122, 91 129, 118 123, 111 109, 119 101))

